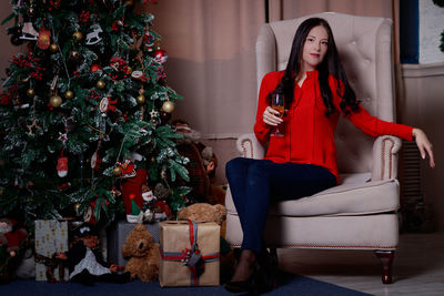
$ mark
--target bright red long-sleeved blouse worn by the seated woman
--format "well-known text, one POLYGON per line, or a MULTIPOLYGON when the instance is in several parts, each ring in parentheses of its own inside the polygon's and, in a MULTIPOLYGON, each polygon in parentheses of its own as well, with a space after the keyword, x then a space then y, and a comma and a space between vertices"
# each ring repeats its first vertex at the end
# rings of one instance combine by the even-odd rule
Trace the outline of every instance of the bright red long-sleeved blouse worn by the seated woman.
MULTIPOLYGON (((283 71, 268 73, 261 84, 254 134, 259 142, 265 143, 270 140, 265 160, 275 163, 311 163, 326 167, 339 180, 336 164, 336 145, 334 142, 334 130, 341 112, 325 116, 326 108, 321 96, 317 80, 317 71, 306 72, 307 76, 302 88, 295 84, 294 101, 280 125, 284 136, 271 134, 273 126, 263 122, 263 112, 268 106, 266 95, 278 85, 283 71)), ((333 76, 329 79, 333 95, 333 104, 341 111, 341 98, 336 94, 336 82, 333 76)), ((412 141, 413 127, 379 120, 369 114, 360 106, 357 112, 351 111, 345 115, 353 125, 371 136, 391 134, 404 140, 412 141)))

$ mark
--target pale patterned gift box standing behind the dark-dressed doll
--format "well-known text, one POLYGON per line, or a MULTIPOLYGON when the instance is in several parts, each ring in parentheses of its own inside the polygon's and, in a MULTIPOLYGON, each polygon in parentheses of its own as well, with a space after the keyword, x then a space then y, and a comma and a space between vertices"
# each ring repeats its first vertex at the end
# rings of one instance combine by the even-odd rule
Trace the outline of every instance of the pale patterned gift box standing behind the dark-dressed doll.
POLYGON ((69 279, 68 266, 53 255, 69 247, 68 222, 38 220, 36 228, 36 280, 64 282, 69 279))

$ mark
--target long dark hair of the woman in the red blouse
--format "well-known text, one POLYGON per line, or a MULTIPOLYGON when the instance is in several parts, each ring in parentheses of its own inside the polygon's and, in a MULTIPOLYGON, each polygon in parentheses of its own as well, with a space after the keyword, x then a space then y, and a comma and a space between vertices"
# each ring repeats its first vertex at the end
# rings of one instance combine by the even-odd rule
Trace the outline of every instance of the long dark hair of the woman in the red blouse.
POLYGON ((349 81, 345 75, 345 71, 342 68, 336 43, 334 42, 332 29, 330 24, 321 18, 311 18, 306 19, 301 23, 297 28, 296 33, 294 34, 292 50, 290 53, 289 63, 286 64, 285 73, 282 76, 281 82, 276 86, 276 92, 284 92, 285 95, 285 105, 290 106, 291 103, 294 101, 294 84, 295 79, 297 75, 301 74, 301 61, 302 61, 302 53, 305 44, 306 37, 309 32, 317 25, 322 25, 325 28, 329 34, 329 45, 327 51, 323 61, 317 65, 319 72, 319 83, 321 89, 322 100, 324 101, 326 112, 325 115, 329 116, 330 114, 336 112, 333 103, 332 103, 332 91, 330 90, 329 85, 329 75, 333 75, 336 80, 342 82, 343 89, 341 90, 341 84, 336 83, 336 93, 337 95, 342 96, 340 106, 341 111, 344 114, 349 113, 347 106, 352 111, 359 110, 359 102, 356 101, 356 95, 352 88, 349 84, 349 81))

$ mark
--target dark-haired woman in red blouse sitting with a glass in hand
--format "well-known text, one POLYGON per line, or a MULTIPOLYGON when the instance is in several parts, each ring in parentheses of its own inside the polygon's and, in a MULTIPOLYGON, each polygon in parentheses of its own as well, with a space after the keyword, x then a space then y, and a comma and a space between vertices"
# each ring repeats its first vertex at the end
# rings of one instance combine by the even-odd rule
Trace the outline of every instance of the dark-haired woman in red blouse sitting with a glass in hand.
POLYGON ((225 284, 228 290, 250 290, 264 282, 258 279, 258 274, 261 258, 266 255, 262 235, 271 196, 299 198, 336 185, 333 135, 340 114, 372 136, 414 139, 422 157, 428 154, 430 165, 435 166, 432 144, 423 131, 379 120, 360 105, 341 65, 329 23, 320 18, 305 20, 294 35, 286 70, 268 73, 262 80, 254 133, 259 142, 269 142, 265 159, 239 157, 226 164, 243 231, 240 261, 231 282, 225 284), (283 93, 285 99, 283 118, 271 106, 276 93, 283 93), (275 133, 276 127, 282 134, 275 133))

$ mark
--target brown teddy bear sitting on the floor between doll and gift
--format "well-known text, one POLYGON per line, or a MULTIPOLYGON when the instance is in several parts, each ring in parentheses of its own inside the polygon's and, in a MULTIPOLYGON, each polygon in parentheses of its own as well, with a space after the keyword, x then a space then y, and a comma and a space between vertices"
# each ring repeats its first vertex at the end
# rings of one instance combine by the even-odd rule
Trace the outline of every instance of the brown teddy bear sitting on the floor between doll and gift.
POLYGON ((131 279, 139 277, 142 282, 151 282, 159 278, 159 244, 142 224, 135 225, 127 236, 122 254, 131 257, 124 269, 131 273, 131 279))

